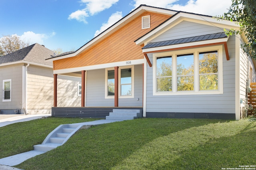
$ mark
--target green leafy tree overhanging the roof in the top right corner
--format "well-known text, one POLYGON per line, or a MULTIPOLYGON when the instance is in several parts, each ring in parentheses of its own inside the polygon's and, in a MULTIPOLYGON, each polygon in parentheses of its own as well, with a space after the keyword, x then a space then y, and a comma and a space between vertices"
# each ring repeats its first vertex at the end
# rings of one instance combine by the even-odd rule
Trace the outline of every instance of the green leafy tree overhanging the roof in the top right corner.
POLYGON ((219 19, 235 21, 240 30, 224 30, 226 35, 245 33, 248 42, 242 45, 244 51, 256 59, 256 1, 255 0, 232 0, 227 13, 218 16, 219 19))

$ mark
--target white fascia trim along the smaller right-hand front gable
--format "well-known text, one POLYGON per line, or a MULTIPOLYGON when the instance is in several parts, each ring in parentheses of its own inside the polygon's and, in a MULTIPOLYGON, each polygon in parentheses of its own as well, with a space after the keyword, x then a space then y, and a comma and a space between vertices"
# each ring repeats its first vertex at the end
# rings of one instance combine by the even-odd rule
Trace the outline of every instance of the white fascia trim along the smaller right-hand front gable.
POLYGON ((179 24, 182 21, 190 21, 190 22, 196 22, 196 23, 206 24, 206 25, 210 25, 210 26, 216 26, 216 27, 220 28, 220 30, 222 30, 223 28, 239 29, 239 26, 237 24, 235 24, 235 22, 230 22, 227 20, 216 20, 216 19, 208 17, 208 16, 201 16, 201 15, 197 15, 197 14, 189 14, 189 13, 180 12, 176 16, 173 16, 172 18, 170 18, 170 20, 168 20, 167 22, 165 22, 158 28, 152 30, 149 34, 146 34, 145 36, 138 39, 135 43, 137 45, 142 45, 142 44, 146 45, 148 42, 150 42, 157 36, 161 35, 162 33, 166 32, 167 30, 170 30, 172 27, 176 26, 177 24, 179 24))

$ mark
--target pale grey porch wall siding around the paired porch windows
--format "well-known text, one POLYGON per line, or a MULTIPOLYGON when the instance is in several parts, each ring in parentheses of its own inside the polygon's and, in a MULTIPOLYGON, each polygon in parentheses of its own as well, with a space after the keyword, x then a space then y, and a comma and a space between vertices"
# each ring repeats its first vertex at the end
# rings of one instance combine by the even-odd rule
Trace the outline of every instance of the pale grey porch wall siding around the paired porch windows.
MULTIPOLYGON (((105 69, 86 72, 86 107, 114 107, 114 98, 105 98, 105 69)), ((142 107, 142 75, 142 65, 134 65, 134 97, 119 98, 120 107, 142 107)))

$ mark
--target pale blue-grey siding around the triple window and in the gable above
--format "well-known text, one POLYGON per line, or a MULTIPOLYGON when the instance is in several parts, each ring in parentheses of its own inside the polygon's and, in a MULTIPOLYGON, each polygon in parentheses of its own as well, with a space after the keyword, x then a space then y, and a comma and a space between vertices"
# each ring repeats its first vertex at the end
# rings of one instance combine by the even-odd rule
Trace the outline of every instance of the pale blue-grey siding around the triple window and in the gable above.
MULTIPOLYGON (((221 32, 219 28, 204 26, 183 21, 166 34, 154 40, 173 40, 184 37, 198 36, 221 32), (181 27, 194 25, 181 29, 181 27), (198 28, 198 29, 197 29, 198 28), (174 30, 173 30, 174 29, 174 30), (189 29, 189 30, 188 30, 189 29), (191 31, 192 30, 192 31, 191 31), (176 37, 174 37, 176 35, 176 37), (167 37, 169 36, 169 37, 167 37)), ((153 41, 152 41, 153 42, 153 41)), ((146 113, 227 113, 235 114, 235 39, 230 37, 228 42, 230 60, 227 61, 223 46, 223 94, 213 95, 153 95, 153 55, 148 55, 152 67, 147 66, 146 113)))

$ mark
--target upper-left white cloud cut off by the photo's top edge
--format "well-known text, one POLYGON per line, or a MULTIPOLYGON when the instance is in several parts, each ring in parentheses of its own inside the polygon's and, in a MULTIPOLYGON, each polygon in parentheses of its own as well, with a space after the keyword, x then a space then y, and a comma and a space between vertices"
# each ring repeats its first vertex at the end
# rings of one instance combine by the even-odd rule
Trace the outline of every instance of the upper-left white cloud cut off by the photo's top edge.
POLYGON ((86 5, 86 8, 72 12, 68 16, 68 19, 76 19, 79 22, 84 22, 87 24, 86 17, 93 16, 110 8, 113 4, 118 2, 118 0, 81 0, 81 2, 86 5))

